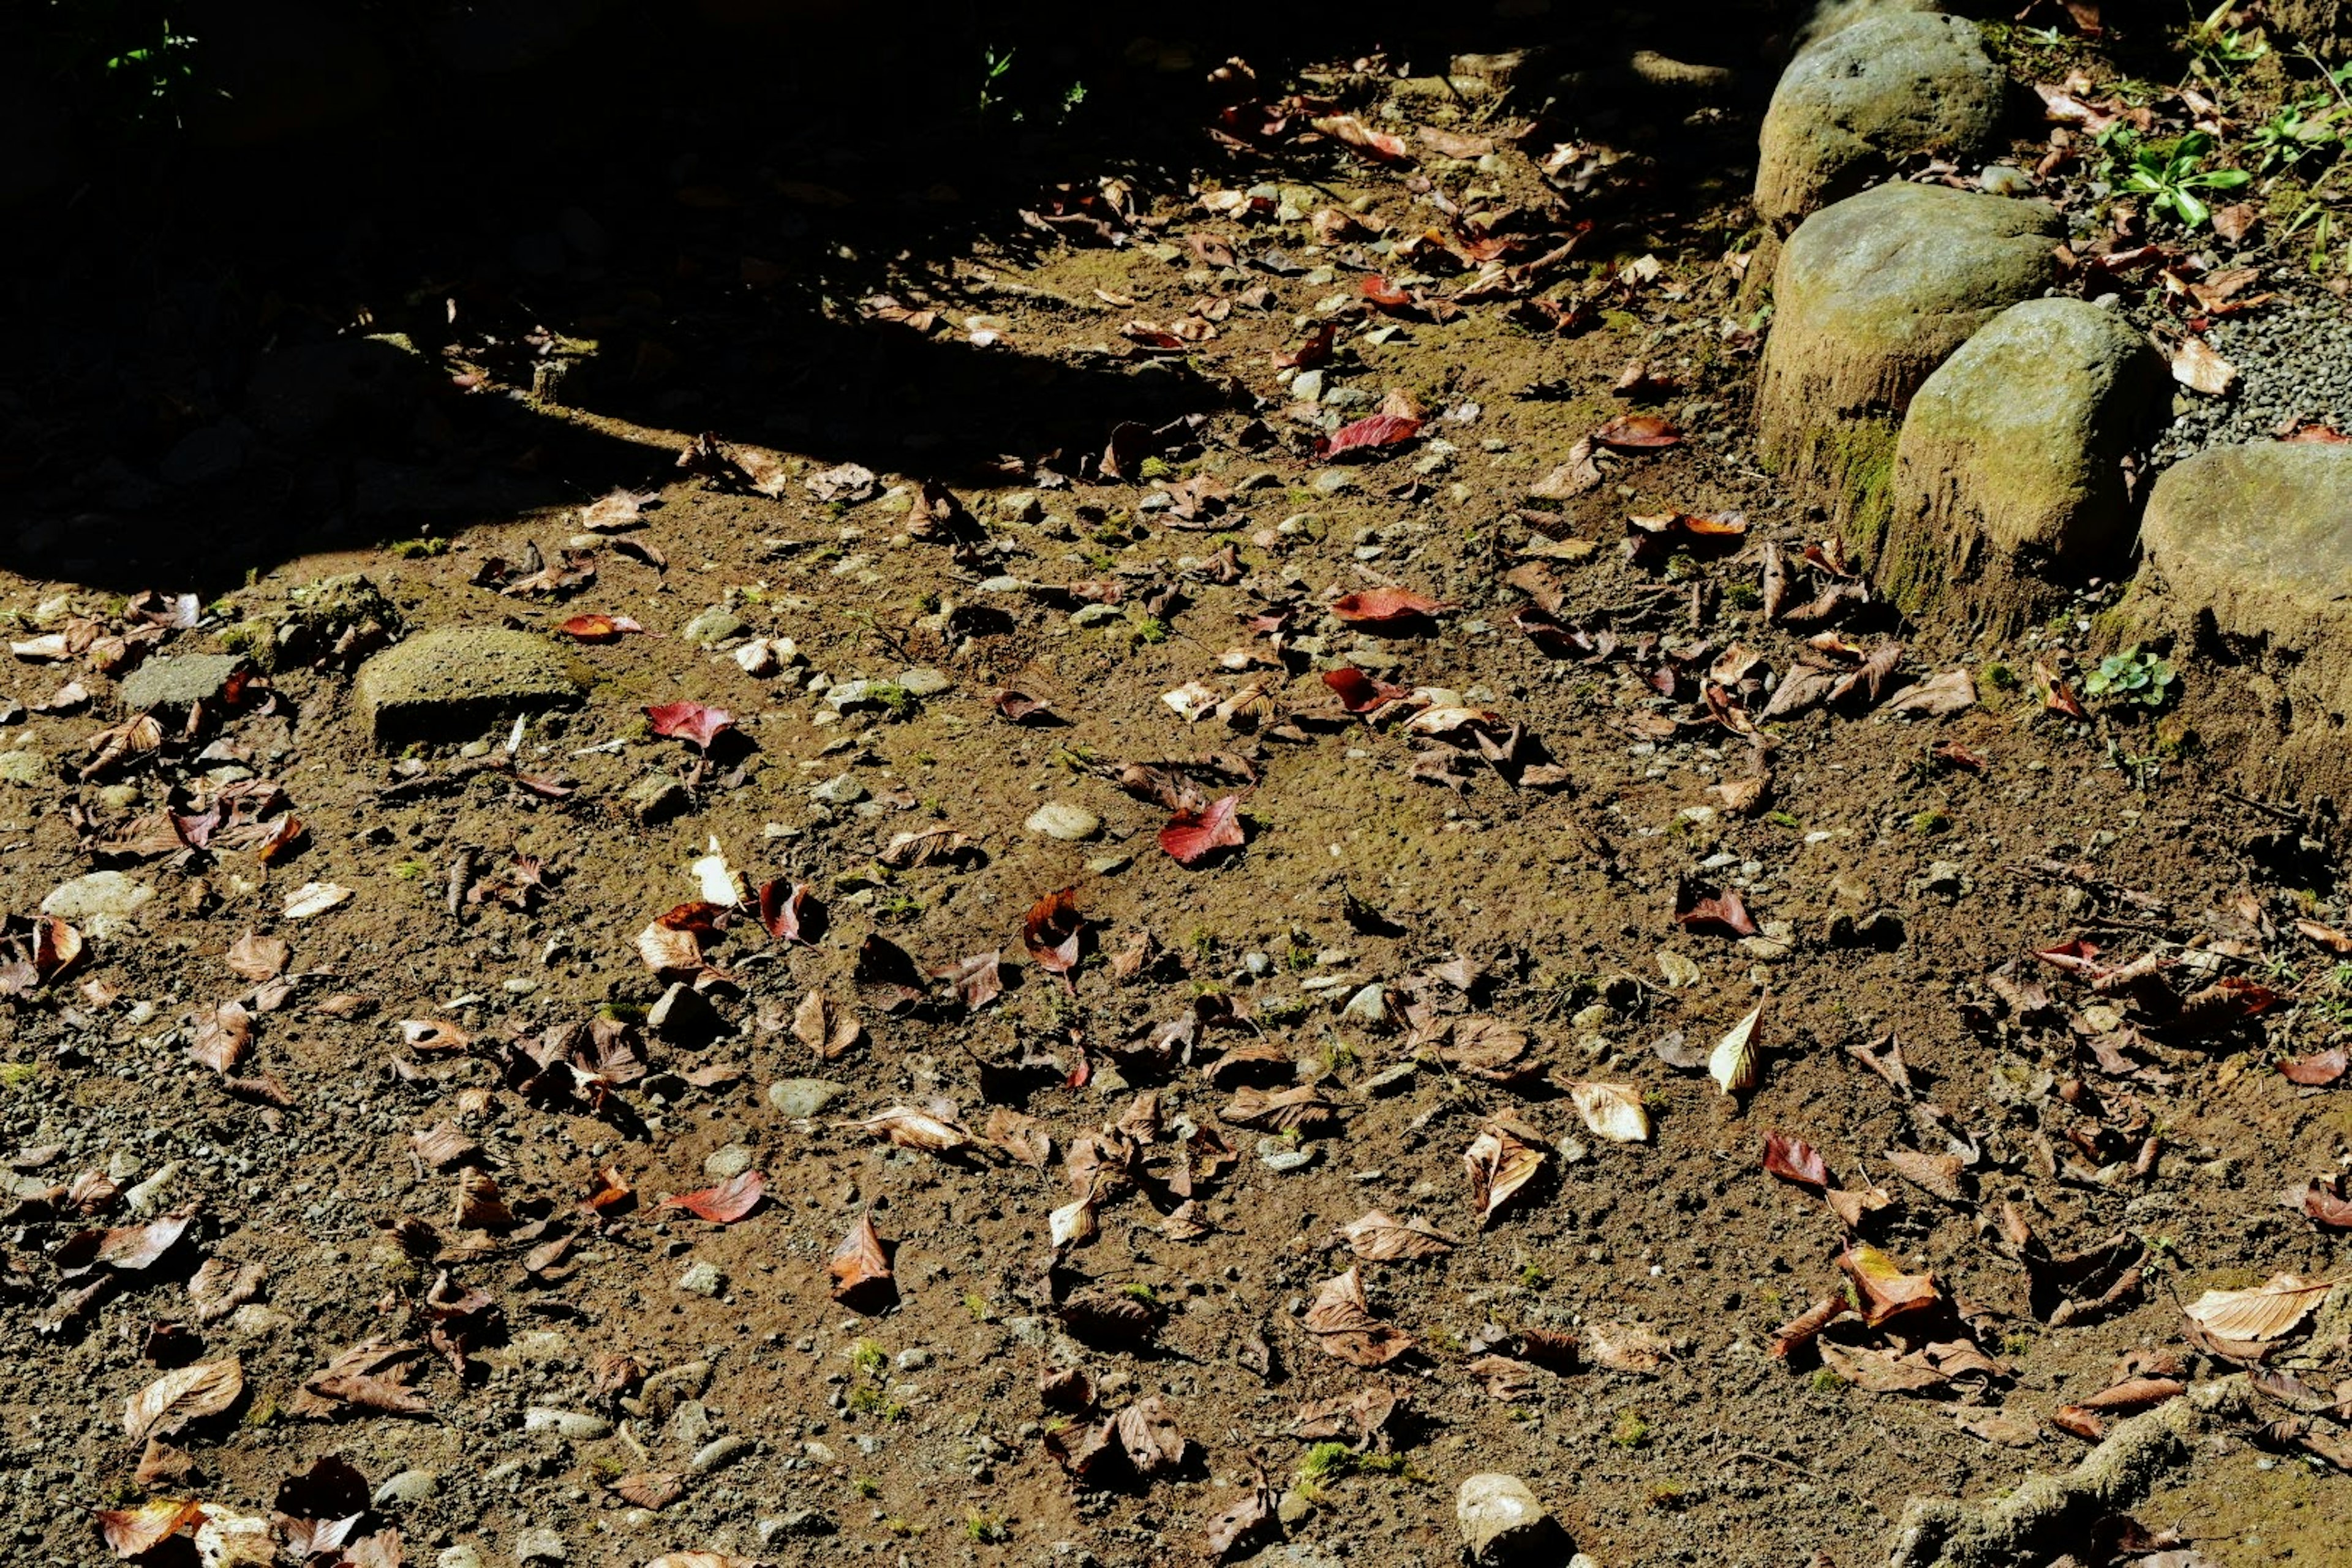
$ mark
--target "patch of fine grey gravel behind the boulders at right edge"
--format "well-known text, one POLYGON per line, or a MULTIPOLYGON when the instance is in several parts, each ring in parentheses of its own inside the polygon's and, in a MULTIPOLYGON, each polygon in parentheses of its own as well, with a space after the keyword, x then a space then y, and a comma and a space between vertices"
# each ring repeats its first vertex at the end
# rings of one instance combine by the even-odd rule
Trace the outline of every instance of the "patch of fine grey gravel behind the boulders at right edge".
POLYGON ((2204 331, 2237 367, 2225 397, 2176 388, 2173 423, 2157 437, 2157 465, 2206 447, 2267 442, 2296 425, 2352 433, 2352 308, 2331 294, 2281 299, 2204 331))

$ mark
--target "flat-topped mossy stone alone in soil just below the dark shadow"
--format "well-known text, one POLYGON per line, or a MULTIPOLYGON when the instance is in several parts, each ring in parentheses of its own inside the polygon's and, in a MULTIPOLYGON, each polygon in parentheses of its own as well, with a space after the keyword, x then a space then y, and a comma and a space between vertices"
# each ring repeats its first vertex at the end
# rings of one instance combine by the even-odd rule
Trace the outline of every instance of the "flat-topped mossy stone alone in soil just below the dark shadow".
POLYGON ((376 741, 477 733, 517 712, 572 708, 581 684, 543 637, 503 628, 416 632, 360 665, 360 712, 376 741))

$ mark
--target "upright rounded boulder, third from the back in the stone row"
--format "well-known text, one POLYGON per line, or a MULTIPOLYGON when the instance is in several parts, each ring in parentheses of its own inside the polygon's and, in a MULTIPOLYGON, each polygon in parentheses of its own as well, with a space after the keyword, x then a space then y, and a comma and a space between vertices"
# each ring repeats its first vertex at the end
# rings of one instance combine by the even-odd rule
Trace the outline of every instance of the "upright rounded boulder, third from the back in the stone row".
POLYGON ((1877 581, 1905 616, 2011 635, 2131 550, 2124 458, 2164 409, 2164 360, 2079 299, 1992 317, 1912 397, 1877 581))

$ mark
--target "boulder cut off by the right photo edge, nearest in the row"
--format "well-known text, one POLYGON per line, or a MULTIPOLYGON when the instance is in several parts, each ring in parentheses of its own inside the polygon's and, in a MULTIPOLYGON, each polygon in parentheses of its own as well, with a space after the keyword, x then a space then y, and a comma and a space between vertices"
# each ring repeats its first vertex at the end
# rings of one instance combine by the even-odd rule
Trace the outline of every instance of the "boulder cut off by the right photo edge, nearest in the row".
MULTIPOLYGON (((2352 447, 2213 447, 2166 468, 2124 621, 2220 672, 2199 736, 2265 790, 2352 797, 2352 447)), ((2209 698, 2209 701, 2206 701, 2209 698)))

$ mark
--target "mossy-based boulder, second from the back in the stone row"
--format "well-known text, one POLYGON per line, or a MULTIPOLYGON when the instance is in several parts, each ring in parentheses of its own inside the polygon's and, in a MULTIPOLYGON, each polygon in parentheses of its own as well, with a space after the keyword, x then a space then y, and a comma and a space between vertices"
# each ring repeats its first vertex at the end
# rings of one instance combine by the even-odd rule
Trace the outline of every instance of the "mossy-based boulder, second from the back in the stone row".
POLYGON ((1896 430, 1919 383, 2058 282, 2058 214, 1947 186, 1877 186, 1797 226, 1773 273, 1757 449, 1877 552, 1896 430))

